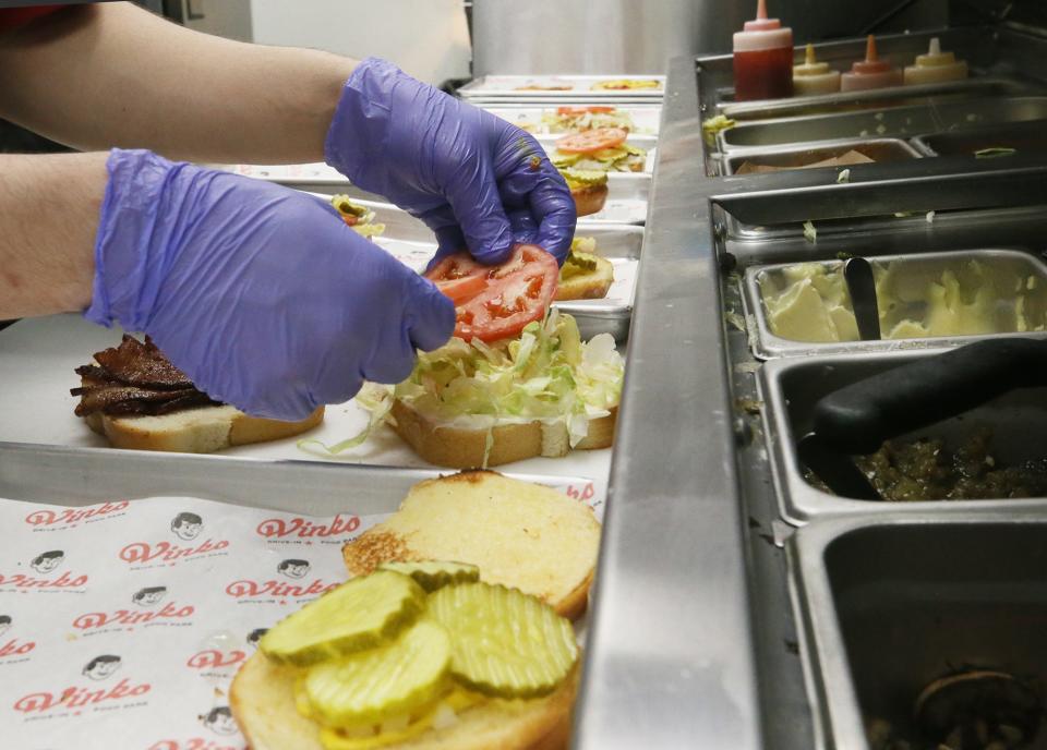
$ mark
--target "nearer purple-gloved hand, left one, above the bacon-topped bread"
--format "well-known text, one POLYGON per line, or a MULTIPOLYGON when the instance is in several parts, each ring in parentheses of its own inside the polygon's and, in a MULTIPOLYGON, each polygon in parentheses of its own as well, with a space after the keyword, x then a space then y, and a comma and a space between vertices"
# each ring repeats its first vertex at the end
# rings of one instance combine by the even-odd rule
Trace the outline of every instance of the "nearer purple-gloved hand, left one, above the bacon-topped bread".
POLYGON ((197 388, 298 420, 443 346, 450 301, 321 198, 115 149, 84 316, 148 334, 197 388))

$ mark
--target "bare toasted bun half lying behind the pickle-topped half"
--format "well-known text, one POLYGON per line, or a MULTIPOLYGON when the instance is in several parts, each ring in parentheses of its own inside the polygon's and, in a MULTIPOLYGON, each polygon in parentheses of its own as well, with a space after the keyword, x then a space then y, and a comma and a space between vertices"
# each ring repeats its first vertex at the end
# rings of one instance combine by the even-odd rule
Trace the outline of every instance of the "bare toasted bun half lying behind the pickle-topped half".
POLYGON ((411 487, 400 509, 342 548, 353 576, 390 560, 457 560, 574 619, 586 608, 600 546, 589 506, 493 471, 411 487))

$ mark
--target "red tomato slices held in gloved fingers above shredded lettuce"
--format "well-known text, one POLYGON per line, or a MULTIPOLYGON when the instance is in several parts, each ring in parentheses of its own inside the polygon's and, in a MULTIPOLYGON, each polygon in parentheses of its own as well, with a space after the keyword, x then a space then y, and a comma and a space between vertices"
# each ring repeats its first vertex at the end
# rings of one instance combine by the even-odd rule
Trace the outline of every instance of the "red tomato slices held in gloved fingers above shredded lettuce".
POLYGON ((556 295, 559 267, 538 245, 516 245, 501 266, 481 265, 461 252, 445 257, 425 278, 455 302, 455 336, 496 341, 541 319, 556 295))

